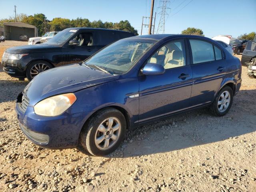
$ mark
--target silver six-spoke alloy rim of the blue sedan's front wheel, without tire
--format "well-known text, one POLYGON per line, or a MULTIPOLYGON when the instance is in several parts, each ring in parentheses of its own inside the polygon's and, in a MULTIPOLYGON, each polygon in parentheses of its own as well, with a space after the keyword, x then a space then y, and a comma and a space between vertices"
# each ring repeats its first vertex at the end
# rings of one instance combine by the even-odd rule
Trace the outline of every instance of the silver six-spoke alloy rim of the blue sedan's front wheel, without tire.
POLYGON ((108 150, 116 142, 121 134, 121 123, 115 117, 110 117, 102 121, 95 134, 95 144, 100 150, 108 150))

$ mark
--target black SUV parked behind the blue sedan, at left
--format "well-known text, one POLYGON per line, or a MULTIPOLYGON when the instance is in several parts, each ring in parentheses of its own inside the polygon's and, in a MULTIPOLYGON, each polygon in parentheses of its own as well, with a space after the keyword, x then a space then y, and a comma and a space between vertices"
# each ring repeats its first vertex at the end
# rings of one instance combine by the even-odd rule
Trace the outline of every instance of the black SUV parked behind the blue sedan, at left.
POLYGON ((43 44, 8 48, 1 63, 10 76, 32 80, 42 71, 81 62, 104 46, 130 36, 135 34, 99 28, 68 28, 43 44))

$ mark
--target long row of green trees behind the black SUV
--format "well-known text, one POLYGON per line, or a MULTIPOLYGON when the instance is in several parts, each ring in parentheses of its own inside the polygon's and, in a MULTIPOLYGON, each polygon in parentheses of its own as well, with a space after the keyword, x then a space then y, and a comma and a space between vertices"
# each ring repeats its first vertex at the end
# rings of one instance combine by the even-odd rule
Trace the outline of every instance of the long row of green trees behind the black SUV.
MULTIPOLYGON (((102 20, 94 20, 89 21, 86 18, 76 18, 76 19, 66 19, 66 18, 53 18, 52 20, 48 20, 46 16, 42 13, 34 14, 34 15, 26 15, 26 14, 18 14, 16 16, 17 22, 23 22, 26 24, 30 24, 36 26, 38 28, 38 35, 42 36, 45 32, 44 28, 46 25, 46 31, 62 31, 66 28, 70 27, 91 27, 91 28, 106 28, 106 29, 115 29, 115 30, 123 30, 128 32, 133 32, 138 35, 138 31, 131 26, 128 20, 120 21, 120 22, 102 22, 102 20), (45 20, 45 22, 44 22, 45 20)), ((10 17, 6 19, 0 20, 0 26, 5 22, 15 22, 15 17, 10 17)))

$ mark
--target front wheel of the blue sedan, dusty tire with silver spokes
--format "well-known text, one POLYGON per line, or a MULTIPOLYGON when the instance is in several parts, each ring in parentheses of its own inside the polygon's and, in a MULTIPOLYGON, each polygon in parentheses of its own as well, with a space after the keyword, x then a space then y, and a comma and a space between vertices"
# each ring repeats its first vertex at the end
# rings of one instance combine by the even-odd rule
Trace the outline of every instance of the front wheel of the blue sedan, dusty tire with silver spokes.
POLYGON ((80 132, 79 141, 82 147, 90 154, 94 156, 104 156, 118 148, 124 139, 125 130, 126 119, 124 115, 115 108, 106 108, 96 112, 96 114, 84 124, 80 132), (109 119, 111 118, 113 119, 113 124, 111 127, 108 127, 107 123, 110 122, 109 119), (118 127, 117 123, 120 123, 119 129, 113 131, 118 127), (102 125, 104 126, 103 128, 102 125), (99 131, 99 128, 102 128, 101 131, 99 131), (112 131, 110 132, 110 130, 112 131), (115 135, 115 140, 112 139, 113 135, 115 135), (98 144, 96 144, 96 140, 99 140, 98 144), (105 147, 106 141, 109 143, 108 148, 105 147))

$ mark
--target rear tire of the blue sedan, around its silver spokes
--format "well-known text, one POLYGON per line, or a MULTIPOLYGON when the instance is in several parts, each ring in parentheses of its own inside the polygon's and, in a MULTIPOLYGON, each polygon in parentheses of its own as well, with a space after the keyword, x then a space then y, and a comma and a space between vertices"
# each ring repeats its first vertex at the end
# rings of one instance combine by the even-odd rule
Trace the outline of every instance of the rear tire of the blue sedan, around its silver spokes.
MULTIPOLYGON (((233 90, 232 88, 230 88, 229 86, 225 86, 224 88, 222 88, 220 90, 220 92, 217 94, 216 98, 214 99, 214 102, 211 104, 211 106, 209 107, 210 112, 215 115, 215 116, 224 116, 228 113, 228 111, 230 110, 231 106, 232 106, 232 102, 233 102, 233 90), (224 96, 226 96, 225 93, 229 93, 230 96, 230 102, 228 104, 228 106, 226 107, 226 109, 224 111, 220 110, 221 105, 222 104, 218 104, 218 102, 221 99, 221 95, 222 93, 224 93, 224 96)), ((224 101, 225 103, 225 101, 224 101)), ((226 102, 227 104, 228 102, 226 102)), ((223 107, 224 109, 224 107, 223 107)))

